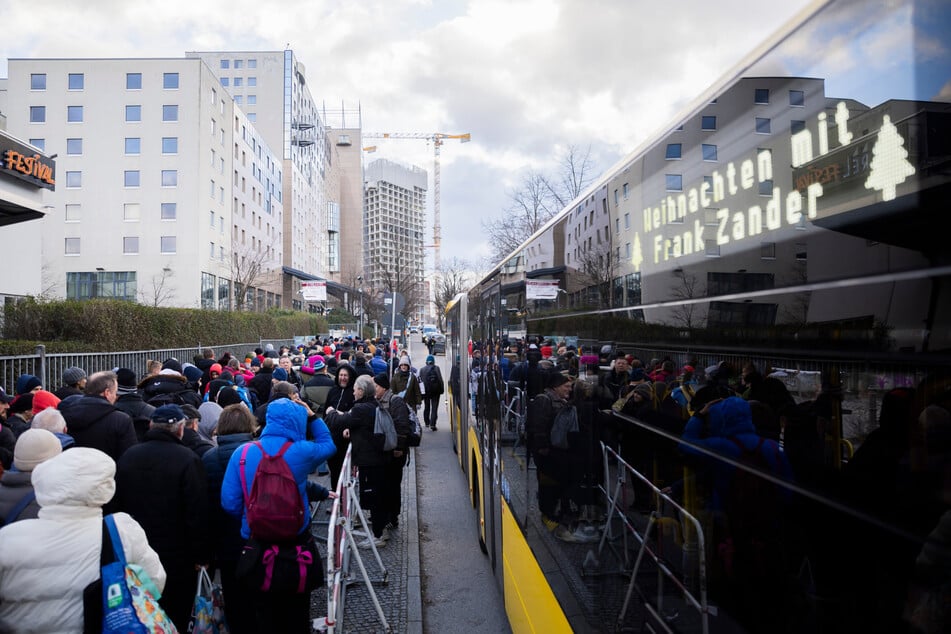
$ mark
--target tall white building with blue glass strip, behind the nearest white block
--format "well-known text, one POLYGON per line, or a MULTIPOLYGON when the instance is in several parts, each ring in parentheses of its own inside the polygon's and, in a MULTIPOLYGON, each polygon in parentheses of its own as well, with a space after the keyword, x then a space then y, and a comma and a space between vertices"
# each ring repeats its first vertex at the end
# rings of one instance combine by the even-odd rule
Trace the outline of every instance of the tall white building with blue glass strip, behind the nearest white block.
POLYGON ((339 228, 332 223, 340 200, 328 189, 331 144, 292 50, 198 51, 235 105, 282 161, 285 305, 300 308, 300 281, 339 271, 339 228))

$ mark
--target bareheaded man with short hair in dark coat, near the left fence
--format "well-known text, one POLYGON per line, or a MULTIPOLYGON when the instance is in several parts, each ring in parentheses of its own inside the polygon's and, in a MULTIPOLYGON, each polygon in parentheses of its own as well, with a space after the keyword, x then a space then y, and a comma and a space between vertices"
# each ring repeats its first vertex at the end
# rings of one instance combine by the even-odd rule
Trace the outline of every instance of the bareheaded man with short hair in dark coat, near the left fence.
POLYGON ((76 446, 98 449, 116 462, 136 443, 132 419, 114 405, 118 393, 115 372, 96 372, 86 381, 85 396, 68 398, 59 405, 76 446))

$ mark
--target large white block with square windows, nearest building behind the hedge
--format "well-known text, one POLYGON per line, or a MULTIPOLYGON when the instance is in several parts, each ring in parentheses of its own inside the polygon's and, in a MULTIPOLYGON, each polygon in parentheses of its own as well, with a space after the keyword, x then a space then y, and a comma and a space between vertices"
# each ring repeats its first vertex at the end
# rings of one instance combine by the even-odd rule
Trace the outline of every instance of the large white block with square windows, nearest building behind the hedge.
MULTIPOLYGON (((282 261, 281 163, 205 63, 11 59, 8 68, 9 131, 57 158, 56 190, 36 223, 46 290, 252 307, 246 295, 232 302, 232 241, 243 230, 245 244, 282 261)), ((281 303, 268 282, 254 279, 253 307, 281 303)))

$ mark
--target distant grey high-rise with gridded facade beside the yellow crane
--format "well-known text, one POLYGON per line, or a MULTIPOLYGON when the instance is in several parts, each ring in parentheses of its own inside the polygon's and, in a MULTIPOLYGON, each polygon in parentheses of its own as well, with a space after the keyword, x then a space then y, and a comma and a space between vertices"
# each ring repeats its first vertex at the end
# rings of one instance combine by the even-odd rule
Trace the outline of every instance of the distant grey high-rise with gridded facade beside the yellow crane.
POLYGON ((415 307, 415 320, 428 310, 423 295, 426 170, 378 159, 364 173, 364 270, 377 292, 396 290, 415 307), (411 297, 410 297, 411 296, 411 297))

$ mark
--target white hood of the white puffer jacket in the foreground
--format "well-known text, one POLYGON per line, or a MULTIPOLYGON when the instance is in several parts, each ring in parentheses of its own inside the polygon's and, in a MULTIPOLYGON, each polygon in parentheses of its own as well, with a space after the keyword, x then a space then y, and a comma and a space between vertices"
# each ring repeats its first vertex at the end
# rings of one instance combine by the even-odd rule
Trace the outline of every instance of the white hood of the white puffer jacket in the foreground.
MULTIPOLYGON (((33 490, 40 507, 100 507, 116 492, 116 463, 89 447, 73 447, 33 469, 33 490)), ((43 515, 43 511, 40 511, 43 515)))

